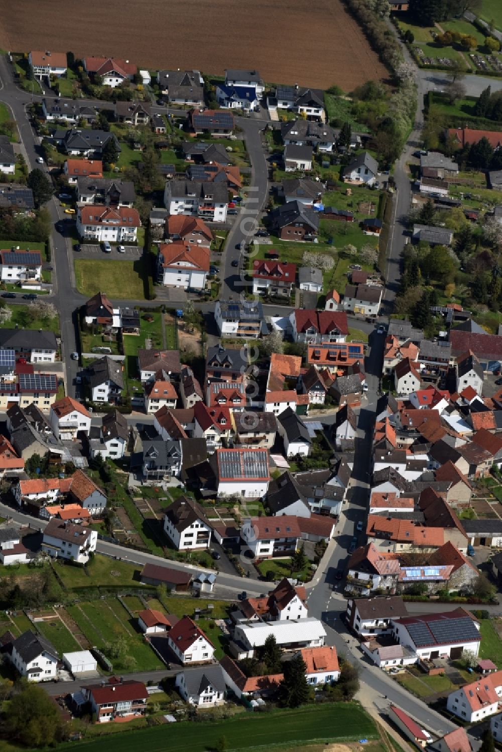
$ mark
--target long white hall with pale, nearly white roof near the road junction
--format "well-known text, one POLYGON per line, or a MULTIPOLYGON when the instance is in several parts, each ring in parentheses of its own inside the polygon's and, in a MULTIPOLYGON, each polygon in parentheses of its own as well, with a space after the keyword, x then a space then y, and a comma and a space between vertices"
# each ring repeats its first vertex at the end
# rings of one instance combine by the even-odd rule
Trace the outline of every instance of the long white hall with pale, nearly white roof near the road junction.
POLYGON ((278 645, 290 650, 321 647, 326 638, 322 623, 314 617, 307 617, 306 619, 238 624, 234 631, 234 640, 244 645, 248 657, 252 658, 254 649, 262 647, 269 635, 274 635, 278 645))

